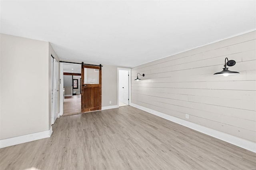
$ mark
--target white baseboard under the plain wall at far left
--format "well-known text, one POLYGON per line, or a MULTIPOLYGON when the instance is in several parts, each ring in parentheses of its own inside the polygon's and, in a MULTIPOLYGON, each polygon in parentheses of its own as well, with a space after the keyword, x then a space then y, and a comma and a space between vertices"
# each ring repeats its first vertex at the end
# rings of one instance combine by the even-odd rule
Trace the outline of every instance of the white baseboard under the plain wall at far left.
POLYGON ((46 130, 43 132, 37 132, 37 133, 26 134, 23 136, 17 136, 17 137, 8 138, 8 139, 2 139, 0 140, 0 148, 5 148, 8 146, 26 143, 26 142, 30 142, 38 139, 48 138, 51 135, 52 135, 52 127, 50 128, 50 130, 46 130))

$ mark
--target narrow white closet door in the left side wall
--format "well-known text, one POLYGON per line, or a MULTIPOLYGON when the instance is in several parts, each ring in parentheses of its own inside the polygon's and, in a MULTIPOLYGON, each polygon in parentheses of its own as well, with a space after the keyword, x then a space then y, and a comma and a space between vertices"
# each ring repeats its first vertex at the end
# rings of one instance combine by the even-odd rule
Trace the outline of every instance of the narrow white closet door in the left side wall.
POLYGON ((53 91, 52 91, 52 124, 56 121, 58 117, 58 69, 59 63, 54 58, 53 59, 53 91))

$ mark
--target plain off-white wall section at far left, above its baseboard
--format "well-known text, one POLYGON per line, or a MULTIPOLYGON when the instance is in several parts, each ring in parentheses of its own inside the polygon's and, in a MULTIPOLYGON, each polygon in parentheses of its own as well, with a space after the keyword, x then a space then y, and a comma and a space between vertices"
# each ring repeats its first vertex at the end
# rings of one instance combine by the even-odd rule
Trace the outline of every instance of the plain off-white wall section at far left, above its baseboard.
POLYGON ((0 139, 49 130, 48 42, 0 36, 0 139))

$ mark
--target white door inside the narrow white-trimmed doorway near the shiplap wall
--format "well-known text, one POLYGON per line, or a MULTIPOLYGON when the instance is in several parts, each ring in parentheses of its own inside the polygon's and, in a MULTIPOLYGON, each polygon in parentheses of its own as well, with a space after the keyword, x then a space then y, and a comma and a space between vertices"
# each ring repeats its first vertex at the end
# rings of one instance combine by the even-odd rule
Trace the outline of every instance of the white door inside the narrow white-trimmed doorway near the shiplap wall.
POLYGON ((129 71, 119 70, 119 101, 129 105, 129 71))

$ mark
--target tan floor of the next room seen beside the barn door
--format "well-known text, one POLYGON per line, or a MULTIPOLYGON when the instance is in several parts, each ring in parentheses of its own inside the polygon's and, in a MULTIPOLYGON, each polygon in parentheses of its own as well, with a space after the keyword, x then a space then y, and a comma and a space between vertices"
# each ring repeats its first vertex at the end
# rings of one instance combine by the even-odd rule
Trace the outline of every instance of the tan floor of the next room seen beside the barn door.
POLYGON ((81 94, 64 97, 63 115, 81 113, 81 94))

